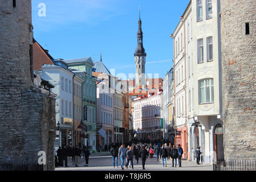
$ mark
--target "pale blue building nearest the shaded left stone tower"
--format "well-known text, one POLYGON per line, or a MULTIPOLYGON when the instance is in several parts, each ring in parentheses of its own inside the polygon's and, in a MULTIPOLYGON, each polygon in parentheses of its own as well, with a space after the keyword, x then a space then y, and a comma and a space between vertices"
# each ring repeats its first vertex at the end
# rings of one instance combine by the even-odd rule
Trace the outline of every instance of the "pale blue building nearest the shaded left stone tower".
POLYGON ((60 128, 56 131, 55 150, 63 146, 73 146, 73 76, 68 70, 68 65, 62 60, 53 60, 54 64, 44 64, 42 71, 38 71, 40 77, 49 81, 55 88, 52 92, 56 97, 56 125, 60 128))

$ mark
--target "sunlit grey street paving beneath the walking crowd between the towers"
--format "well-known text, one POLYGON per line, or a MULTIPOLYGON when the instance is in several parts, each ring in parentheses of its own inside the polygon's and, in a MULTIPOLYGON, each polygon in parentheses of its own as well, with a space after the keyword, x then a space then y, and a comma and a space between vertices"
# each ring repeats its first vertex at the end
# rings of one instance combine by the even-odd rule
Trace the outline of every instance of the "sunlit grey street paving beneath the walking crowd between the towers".
MULTIPOLYGON (((139 164, 136 164, 137 162, 135 161, 135 159, 133 160, 133 162, 134 170, 142 171, 141 160, 139 160, 139 164)), ((71 158, 68 158, 68 167, 57 167, 55 168, 55 171, 121 171, 121 168, 119 167, 120 163, 121 160, 118 160, 118 168, 114 168, 112 163, 112 156, 110 156, 110 153, 101 152, 90 155, 88 167, 84 167, 84 158, 79 158, 79 167, 75 167, 75 164, 72 163, 71 158)), ((212 171, 212 165, 197 165, 195 162, 189 162, 187 160, 182 160, 182 167, 172 167, 171 163, 171 160, 167 160, 167 167, 163 167, 162 159, 157 162, 156 157, 154 156, 154 159, 146 160, 145 168, 148 171, 212 171)), ((125 170, 133 171, 131 168, 125 168, 125 170)))

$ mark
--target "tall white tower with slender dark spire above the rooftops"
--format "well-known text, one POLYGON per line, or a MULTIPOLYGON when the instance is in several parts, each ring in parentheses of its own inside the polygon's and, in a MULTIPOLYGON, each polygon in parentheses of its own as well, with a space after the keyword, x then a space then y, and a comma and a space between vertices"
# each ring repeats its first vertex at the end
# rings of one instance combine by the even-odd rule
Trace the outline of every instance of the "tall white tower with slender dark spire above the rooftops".
POLYGON ((137 48, 134 53, 136 64, 136 86, 146 86, 145 64, 146 56, 145 49, 143 48, 143 33, 141 30, 141 13, 139 13, 139 30, 137 33, 137 48))

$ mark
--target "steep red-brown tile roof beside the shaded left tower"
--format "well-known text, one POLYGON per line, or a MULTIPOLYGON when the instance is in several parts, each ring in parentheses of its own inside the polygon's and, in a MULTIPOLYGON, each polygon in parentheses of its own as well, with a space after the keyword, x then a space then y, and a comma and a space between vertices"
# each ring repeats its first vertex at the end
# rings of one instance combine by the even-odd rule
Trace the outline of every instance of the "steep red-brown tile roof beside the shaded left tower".
POLYGON ((33 39, 33 70, 40 71, 43 64, 53 64, 52 56, 33 39))

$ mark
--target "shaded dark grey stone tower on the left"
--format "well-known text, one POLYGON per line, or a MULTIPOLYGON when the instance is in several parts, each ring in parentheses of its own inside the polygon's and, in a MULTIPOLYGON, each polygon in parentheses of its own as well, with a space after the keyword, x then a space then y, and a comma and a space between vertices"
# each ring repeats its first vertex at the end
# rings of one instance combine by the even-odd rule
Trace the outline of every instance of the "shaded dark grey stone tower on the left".
POLYGON ((54 169, 55 99, 32 82, 31 0, 0 0, 0 162, 54 169))

